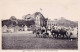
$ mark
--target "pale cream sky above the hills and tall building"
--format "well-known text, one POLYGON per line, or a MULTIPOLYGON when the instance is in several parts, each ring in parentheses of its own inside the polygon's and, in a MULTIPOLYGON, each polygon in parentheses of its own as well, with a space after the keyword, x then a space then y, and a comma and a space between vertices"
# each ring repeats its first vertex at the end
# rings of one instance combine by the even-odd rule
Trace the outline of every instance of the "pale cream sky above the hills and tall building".
POLYGON ((0 0, 0 18, 9 19, 41 12, 45 18, 59 19, 64 17, 72 21, 80 19, 79 0, 0 0), (42 11, 40 10, 42 9, 42 11))

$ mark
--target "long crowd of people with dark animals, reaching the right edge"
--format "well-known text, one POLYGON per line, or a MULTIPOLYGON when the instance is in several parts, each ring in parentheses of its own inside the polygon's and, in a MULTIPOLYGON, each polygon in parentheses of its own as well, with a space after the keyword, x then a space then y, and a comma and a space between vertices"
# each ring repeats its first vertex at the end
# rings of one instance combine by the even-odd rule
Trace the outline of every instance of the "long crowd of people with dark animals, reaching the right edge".
MULTIPOLYGON (((77 28, 76 28, 77 29, 77 28)), ((66 35, 66 36, 71 36, 72 31, 74 31, 74 28, 69 27, 64 27, 64 26, 52 26, 52 27, 40 27, 39 29, 35 29, 33 33, 36 33, 36 36, 40 36, 41 34, 44 35, 52 35, 54 34, 61 34, 61 35, 66 35), (53 31, 54 30, 54 31, 53 31)), ((76 33, 78 34, 78 29, 76 30, 76 33)), ((77 35, 76 34, 76 35, 77 35)))

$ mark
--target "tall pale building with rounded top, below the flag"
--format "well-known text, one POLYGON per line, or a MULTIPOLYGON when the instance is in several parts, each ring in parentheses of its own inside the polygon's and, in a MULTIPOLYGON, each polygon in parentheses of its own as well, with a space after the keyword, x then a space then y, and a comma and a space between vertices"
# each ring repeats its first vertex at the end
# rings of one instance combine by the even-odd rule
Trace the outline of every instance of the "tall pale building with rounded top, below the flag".
POLYGON ((40 12, 36 12, 32 16, 34 18, 36 27, 45 26, 45 18, 40 12))

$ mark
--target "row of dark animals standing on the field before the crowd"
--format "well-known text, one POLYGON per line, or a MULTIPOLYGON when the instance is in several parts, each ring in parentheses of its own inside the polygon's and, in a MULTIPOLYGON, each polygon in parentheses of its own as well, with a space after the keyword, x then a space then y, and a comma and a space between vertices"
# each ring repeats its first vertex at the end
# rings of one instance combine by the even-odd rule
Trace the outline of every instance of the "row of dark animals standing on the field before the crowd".
POLYGON ((68 32, 68 30, 65 30, 65 29, 49 29, 49 30, 37 29, 34 32, 36 33, 36 37, 43 37, 43 38, 48 37, 49 38, 50 36, 52 36, 53 38, 70 38, 72 33, 68 32))

